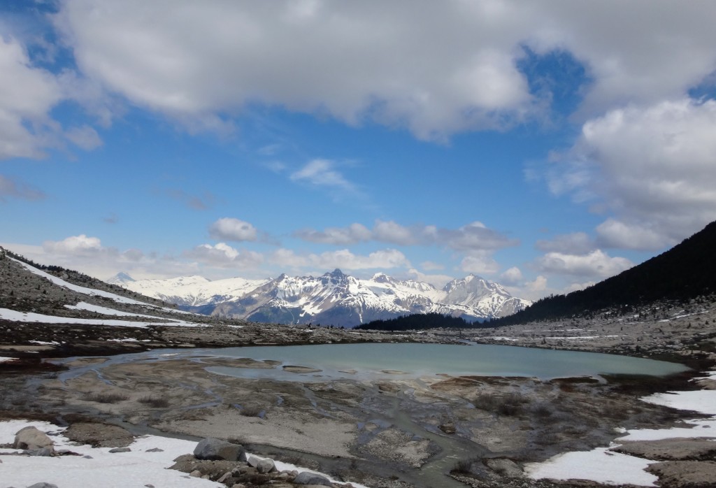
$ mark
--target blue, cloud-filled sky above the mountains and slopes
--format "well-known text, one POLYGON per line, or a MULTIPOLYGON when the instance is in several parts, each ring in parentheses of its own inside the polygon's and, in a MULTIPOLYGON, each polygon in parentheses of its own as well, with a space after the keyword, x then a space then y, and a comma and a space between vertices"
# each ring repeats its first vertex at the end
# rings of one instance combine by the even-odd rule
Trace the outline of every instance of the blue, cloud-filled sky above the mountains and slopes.
POLYGON ((716 2, 11 0, 0 245, 537 299, 716 220, 716 2))

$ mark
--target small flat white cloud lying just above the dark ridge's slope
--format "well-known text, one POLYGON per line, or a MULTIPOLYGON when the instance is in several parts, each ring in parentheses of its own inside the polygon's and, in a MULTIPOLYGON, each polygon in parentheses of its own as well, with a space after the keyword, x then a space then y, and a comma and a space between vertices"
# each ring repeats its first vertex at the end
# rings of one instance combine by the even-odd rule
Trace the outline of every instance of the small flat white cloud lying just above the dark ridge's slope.
POLYGON ((631 268, 634 263, 627 258, 612 258, 597 249, 586 255, 547 253, 536 260, 536 265, 542 273, 604 279, 631 268))

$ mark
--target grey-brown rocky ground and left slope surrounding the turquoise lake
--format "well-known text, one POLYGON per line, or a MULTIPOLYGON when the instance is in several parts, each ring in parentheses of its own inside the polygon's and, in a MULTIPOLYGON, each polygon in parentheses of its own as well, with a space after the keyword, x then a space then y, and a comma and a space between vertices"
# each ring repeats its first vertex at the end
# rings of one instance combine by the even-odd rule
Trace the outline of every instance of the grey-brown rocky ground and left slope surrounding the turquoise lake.
MULTIPOLYGON (((0 319, 0 418, 69 424, 70 433, 82 436, 89 436, 82 426, 89 422, 99 432, 93 434, 97 443, 147 433, 195 442, 215 437, 336 482, 369 487, 599 486, 531 479, 525 470, 560 452, 609 446, 622 435, 617 427, 664 429, 703 418, 641 399, 716 388, 713 379, 690 381, 716 364, 716 306, 708 297, 526 326, 377 333, 193 316, 109 285, 87 288, 91 283, 66 270, 54 272, 43 275, 0 259, 0 311, 12 318, 0 319), (121 323, 107 325, 108 317, 121 323), (193 353, 202 346, 392 341, 612 352, 670 358, 695 371, 668 379, 413 378, 387 371, 380 380, 364 381, 321 380, 321 371, 296 364, 286 370, 296 379, 279 381, 209 371, 231 366, 260 377, 277 362, 193 353), (116 356, 167 347, 178 350, 175 356, 116 356), (129 434, 118 434, 117 427, 129 434)), ((615 449, 659 460, 650 469, 662 486, 701 487, 714 483, 715 454, 707 442, 637 441, 615 449)), ((226 486, 300 486, 293 473, 260 473, 247 461, 185 454, 176 469, 223 477, 226 486)))

